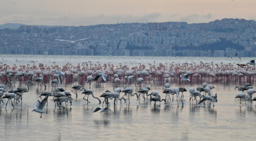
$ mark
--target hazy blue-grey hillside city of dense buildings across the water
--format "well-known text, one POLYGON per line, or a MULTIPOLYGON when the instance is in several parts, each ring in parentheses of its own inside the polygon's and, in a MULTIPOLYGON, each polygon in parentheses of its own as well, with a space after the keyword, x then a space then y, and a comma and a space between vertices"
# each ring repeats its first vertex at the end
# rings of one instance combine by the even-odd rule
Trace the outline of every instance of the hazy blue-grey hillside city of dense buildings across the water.
POLYGON ((49 28, 20 25, 18 29, 0 29, 0 41, 0 54, 232 57, 240 53, 240 57, 253 57, 256 22, 224 18, 199 24, 154 22, 49 28), (74 45, 55 40, 88 37, 91 38, 74 45))

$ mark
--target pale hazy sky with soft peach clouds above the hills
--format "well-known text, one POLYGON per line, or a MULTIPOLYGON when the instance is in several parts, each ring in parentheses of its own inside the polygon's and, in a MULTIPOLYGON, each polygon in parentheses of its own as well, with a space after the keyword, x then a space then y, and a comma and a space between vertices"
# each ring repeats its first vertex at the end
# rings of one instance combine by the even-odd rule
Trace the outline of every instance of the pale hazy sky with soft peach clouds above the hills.
POLYGON ((256 20, 256 0, 0 0, 0 24, 95 25, 124 22, 256 20))

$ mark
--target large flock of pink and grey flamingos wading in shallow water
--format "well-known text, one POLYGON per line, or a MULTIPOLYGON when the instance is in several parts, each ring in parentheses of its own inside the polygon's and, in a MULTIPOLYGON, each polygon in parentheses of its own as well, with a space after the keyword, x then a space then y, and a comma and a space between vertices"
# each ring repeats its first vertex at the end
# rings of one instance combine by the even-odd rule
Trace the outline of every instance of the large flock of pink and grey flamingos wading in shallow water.
MULTIPOLYGON (((240 59, 241 60, 241 59, 240 59)), ((155 64, 148 64, 148 67, 146 65, 143 65, 141 63, 138 63, 139 66, 135 67, 128 67, 128 65, 122 65, 119 63, 116 67, 111 64, 103 64, 100 65, 100 62, 97 62, 96 64, 92 64, 91 61, 84 62, 82 64, 72 65, 71 63, 67 63, 64 66, 58 66, 55 62, 52 66, 46 66, 42 63, 39 63, 39 65, 35 65, 35 63, 32 61, 33 65, 30 66, 30 64, 27 65, 10 65, 3 64, 0 62, 0 78, 5 81, 4 85, 0 85, 0 104, 1 102, 4 103, 2 98, 7 98, 8 101, 11 100, 11 104, 13 106, 13 102, 20 101, 20 104, 22 104, 22 95, 23 93, 26 93, 29 91, 30 85, 33 85, 33 81, 37 83, 37 87, 42 87, 41 84, 43 84, 46 88, 46 85, 44 82, 50 77, 53 78, 52 80, 52 87, 54 87, 54 92, 45 91, 40 95, 45 96, 42 101, 37 100, 36 102, 36 108, 33 109, 34 112, 41 113, 41 117, 43 113, 47 113, 43 110, 45 107, 45 104, 48 103, 48 97, 52 96, 55 106, 57 105, 60 109, 65 108, 62 106, 62 102, 70 103, 70 106, 72 105, 72 96, 70 92, 65 91, 63 88, 61 88, 61 85, 63 84, 63 79, 66 80, 72 80, 74 83, 80 83, 82 85, 75 84, 72 87, 71 92, 76 94, 76 98, 78 96, 78 90, 83 91, 82 94, 85 94, 83 99, 87 101, 87 104, 90 103, 88 100, 89 95, 93 96, 93 98, 98 99, 99 103, 101 103, 100 98, 104 98, 102 103, 102 108, 98 107, 93 112, 104 112, 107 113, 110 111, 108 107, 104 108, 104 102, 106 102, 108 106, 108 100, 114 99, 114 105, 117 105, 117 101, 120 101, 120 104, 122 101, 124 103, 130 104, 130 96, 136 96, 137 100, 140 100, 140 95, 142 94, 142 97, 145 101, 145 96, 150 96, 148 100, 154 101, 154 106, 160 106, 156 105, 156 102, 161 102, 170 100, 170 102, 174 101, 174 95, 176 94, 176 101, 179 105, 178 98, 180 99, 182 105, 184 104, 183 98, 183 92, 187 92, 187 90, 183 87, 174 87, 171 88, 171 85, 169 83, 170 80, 177 79, 176 81, 197 81, 200 77, 201 78, 211 78, 212 80, 217 80, 219 78, 238 78, 238 79, 251 79, 254 78, 256 75, 256 68, 254 60, 250 61, 247 64, 236 64, 237 66, 234 66, 234 64, 214 64, 211 63, 203 63, 200 61, 199 64, 196 64, 195 62, 191 63, 183 63, 183 64, 174 64, 172 62, 171 64, 168 63, 160 63, 159 65, 155 64), (113 77, 113 79, 112 79, 113 77), (84 79, 85 78, 85 79, 84 79), (144 81, 150 81, 150 79, 155 82, 156 79, 158 81, 161 81, 164 83, 164 90, 163 94, 165 94, 165 99, 161 99, 160 92, 158 91, 150 91, 150 87, 144 87, 141 88, 141 84, 144 81), (123 81, 121 83, 121 80, 123 81), (14 81, 14 85, 16 81, 26 81, 27 87, 17 87, 17 89, 11 89, 8 91, 8 85, 11 85, 14 81), (108 81, 113 81, 113 92, 110 90, 106 90, 100 98, 97 98, 93 94, 93 90, 91 89, 85 89, 83 86, 86 83, 89 83, 89 87, 91 87, 91 83, 97 83, 98 85, 101 85, 101 83, 107 83, 108 81), (118 87, 118 84, 122 84, 124 89, 118 87), (134 93, 133 85, 139 85, 140 90, 138 92, 134 93), (115 88, 116 87, 116 88, 115 88), (7 92, 7 94, 4 94, 7 92), (180 96, 181 92, 181 96, 180 96), (124 93, 124 95, 121 97, 120 94, 124 93), (173 95, 173 98, 171 99, 171 95, 173 95), (85 98, 87 96, 87 98, 85 98), (126 96, 126 98, 124 97, 126 96), (13 101, 12 101, 13 99, 13 101)), ((111 82, 112 83, 112 82, 111 82)), ((191 82, 190 82, 191 83, 191 82)), ((21 83, 19 83, 20 85, 21 83)), ((202 87, 197 87, 194 89, 193 87, 189 88, 188 92, 190 94, 189 103, 191 103, 194 100, 196 100, 197 103, 197 96, 200 98, 200 101, 197 104, 205 103, 205 101, 210 101, 213 103, 217 102, 217 94, 213 95, 212 89, 215 87, 211 84, 207 85, 206 83, 202 84, 202 87), (201 94, 203 92, 203 94, 201 94), (207 94, 206 94, 207 93, 207 94), (201 99, 202 98, 202 99, 201 99)), ((242 87, 236 87, 239 91, 242 91, 241 93, 237 94, 235 98, 240 98, 240 106, 243 105, 241 103, 241 99, 256 101, 256 97, 252 99, 252 95, 256 92, 252 85, 250 83, 246 83, 245 86, 242 87), (246 90, 246 92, 244 92, 246 90), (247 94, 246 94, 247 93, 247 94)), ((236 89, 235 88, 235 89, 236 89)), ((46 90, 46 89, 45 89, 46 90)), ((14 108, 14 106, 13 106, 14 108)), ((32 111, 32 112, 33 112, 32 111)))

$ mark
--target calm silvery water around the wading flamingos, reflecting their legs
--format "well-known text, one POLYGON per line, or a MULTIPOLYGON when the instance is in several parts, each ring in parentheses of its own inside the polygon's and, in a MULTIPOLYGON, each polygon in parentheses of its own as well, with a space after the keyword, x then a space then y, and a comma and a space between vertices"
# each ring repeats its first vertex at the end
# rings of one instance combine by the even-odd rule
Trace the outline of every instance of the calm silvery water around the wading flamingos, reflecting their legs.
MULTIPOLYGON (((176 58, 173 57, 118 57, 118 56, 13 56, 13 55, 1 55, 0 59, 3 63, 12 65, 24 65, 30 63, 29 61, 36 61, 38 63, 44 63, 44 65, 52 65, 52 61, 56 61, 56 65, 63 65, 67 62, 77 64, 84 61, 91 60, 92 63, 100 61, 100 63, 114 63, 117 62, 129 62, 128 65, 137 65, 139 61, 143 64, 148 63, 171 63, 174 61, 178 63, 176 58), (2 58, 4 60, 2 60, 2 58), (6 61, 8 58, 8 61, 6 61), (15 60, 18 59, 19 62, 15 60), (65 60, 67 61, 65 61, 65 60), (130 64, 130 61, 134 62, 130 64)), ((186 61, 199 61, 216 63, 230 63, 231 59, 228 58, 179 58, 180 63, 186 61)), ((239 60, 233 58, 232 61, 239 60)), ((243 63, 252 60, 246 58, 243 63)), ((233 63, 233 62, 232 62, 233 63)), ((31 64, 31 63, 30 63, 31 64)), ((50 78, 47 81, 46 90, 53 91, 50 82, 50 78)), ((210 141, 210 140, 255 140, 253 131, 255 126, 253 124, 256 118, 255 101, 250 106, 250 101, 247 101, 247 105, 239 107, 239 101, 235 99, 236 94, 239 93, 235 90, 235 86, 244 85, 249 82, 256 88, 255 80, 219 80, 211 81, 206 79, 199 80, 193 83, 180 83, 177 79, 169 81, 171 88, 173 87, 185 87, 187 90, 190 87, 201 87, 201 84, 212 83, 216 89, 213 89, 213 93, 218 94, 218 103, 215 103, 215 107, 208 107, 207 105, 189 104, 189 93, 184 93, 184 106, 179 101, 177 105, 174 97, 173 104, 161 102, 161 107, 154 107, 154 102, 150 103, 148 99, 145 102, 136 101, 137 98, 130 97, 130 105, 123 104, 113 106, 113 101, 109 100, 109 108, 111 112, 107 115, 103 113, 92 111, 96 107, 101 107, 98 104, 97 99, 93 99, 89 96, 89 103, 83 100, 83 96, 78 92, 78 98, 71 92, 72 82, 68 81, 68 78, 64 78, 63 89, 69 91, 73 97, 72 106, 67 105, 65 109, 59 110, 54 107, 52 97, 48 99, 48 107, 45 107, 48 114, 43 114, 40 118, 40 114, 31 112, 35 108, 35 102, 39 98, 39 95, 45 92, 44 89, 37 88, 37 85, 30 86, 30 91, 23 94, 22 105, 20 102, 15 102, 15 109, 12 108, 11 103, 0 106, 0 139, 1 141, 28 141, 28 140, 43 140, 43 141, 69 141, 69 140, 193 140, 198 141, 210 141)), ((0 80, 1 84, 4 80, 0 80)), ((113 91, 113 80, 103 85, 92 83, 91 89, 94 91, 95 96, 99 97, 107 89, 113 91)), ((142 87, 149 86, 151 90, 158 90, 161 97, 165 97, 165 94, 161 94, 163 91, 163 83, 147 81, 143 83, 142 87)), ((16 82, 14 85, 9 85, 8 89, 14 89, 19 86, 26 87, 26 82, 21 84, 16 82)), ((121 89, 124 89, 122 85, 119 85, 121 89)), ((89 85, 85 85, 86 89, 89 89, 89 85)), ((139 87, 134 87, 134 91, 138 91, 139 87)), ((123 94, 121 94, 122 96, 123 94)), ((103 101, 104 99, 101 98, 103 101)), ((7 99, 4 99, 6 103, 7 99)), ((242 101, 245 103, 245 101, 242 101)), ((64 103, 63 103, 64 104, 64 103)), ((158 102, 159 104, 159 102, 158 102)), ((206 103, 207 104, 207 103, 206 103)))

